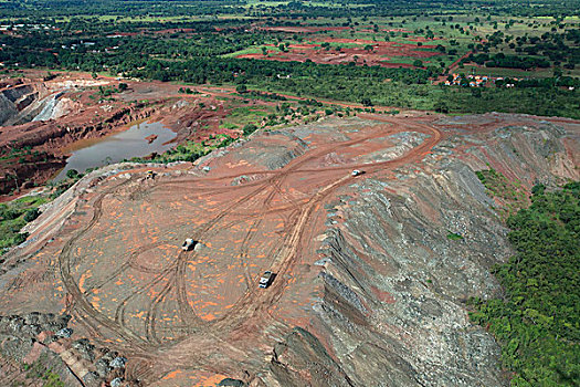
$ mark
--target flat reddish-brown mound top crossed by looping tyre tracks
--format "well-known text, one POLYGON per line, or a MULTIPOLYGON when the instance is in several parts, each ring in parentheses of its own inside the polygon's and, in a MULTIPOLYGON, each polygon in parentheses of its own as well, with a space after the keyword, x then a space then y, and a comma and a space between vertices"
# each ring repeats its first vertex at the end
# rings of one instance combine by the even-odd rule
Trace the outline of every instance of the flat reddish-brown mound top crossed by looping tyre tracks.
POLYGON ((363 118, 303 138, 259 134, 207 161, 207 176, 200 165, 177 177, 160 169, 154 179, 139 170, 105 179, 61 231, 55 302, 77 330, 127 354, 128 377, 146 385, 175 370, 193 373, 193 381, 203 373, 251 374, 272 344, 266 336, 303 322, 312 278, 302 273, 315 260, 324 205, 357 179, 421 161, 442 137, 418 119, 363 118), (423 140, 368 160, 401 133, 423 140), (296 144, 302 150, 282 168, 256 161, 296 144), (354 169, 366 175, 352 177, 354 169), (182 251, 184 238, 199 249, 182 251), (257 287, 265 270, 277 274, 266 290, 257 287))

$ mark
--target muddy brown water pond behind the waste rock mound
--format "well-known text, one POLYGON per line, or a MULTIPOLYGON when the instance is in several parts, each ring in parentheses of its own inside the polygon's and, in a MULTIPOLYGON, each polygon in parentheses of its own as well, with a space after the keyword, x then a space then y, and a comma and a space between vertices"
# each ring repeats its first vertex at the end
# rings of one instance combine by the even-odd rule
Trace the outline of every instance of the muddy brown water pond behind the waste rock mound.
POLYGON ((131 157, 147 156, 154 151, 164 153, 175 145, 168 143, 176 136, 176 133, 160 123, 141 123, 110 136, 81 143, 81 147, 72 149, 66 166, 54 180, 64 179, 71 169, 84 172, 87 168, 103 167, 131 157), (157 138, 149 142, 146 139, 151 138, 149 136, 157 138))

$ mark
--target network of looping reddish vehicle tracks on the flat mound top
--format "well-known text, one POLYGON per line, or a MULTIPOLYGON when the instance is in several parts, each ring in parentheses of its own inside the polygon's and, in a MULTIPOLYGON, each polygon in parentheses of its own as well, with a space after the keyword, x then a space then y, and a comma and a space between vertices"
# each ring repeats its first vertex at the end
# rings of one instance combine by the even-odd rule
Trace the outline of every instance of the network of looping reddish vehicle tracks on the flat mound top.
MULTIPOLYGON (((120 268, 108 275, 105 281, 95 284, 93 287, 88 287, 88 290, 93 290, 104 286, 105 284, 113 281, 116 275, 119 275, 123 271, 129 268, 154 275, 150 281, 133 290, 131 293, 117 305, 114 318, 110 318, 109 316, 95 310, 95 307, 86 299, 86 291, 85 293, 81 292, 78 283, 71 274, 72 249, 75 243, 99 221, 103 213, 103 200, 105 200, 108 195, 115 194, 120 189, 125 189, 127 186, 130 186, 131 182, 135 182, 134 178, 107 188, 101 192, 96 199, 94 199, 93 217, 91 221, 84 228, 80 229, 75 236, 73 236, 65 243, 61 252, 59 259, 61 276, 63 279, 66 292, 71 294, 73 300, 70 305, 70 311, 77 315, 78 320, 87 325, 87 328, 98 332, 99 326, 103 326, 108 332, 118 335, 118 337, 125 342, 124 346, 126 349, 135 354, 136 358, 140 358, 144 362, 150 362, 152 359, 159 362, 159 356, 157 355, 159 351, 168 349, 177 344, 179 344, 179 346, 182 348, 192 348, 196 346, 194 341, 199 335, 205 335, 207 337, 223 336, 226 332, 244 330, 244 325, 249 325, 250 323, 253 325, 263 324, 264 320, 272 318, 266 312, 282 297, 287 287, 287 281, 284 279, 284 275, 289 273, 293 265, 296 263, 296 254, 304 239, 305 230, 307 229, 309 221, 313 219, 313 213, 339 187, 348 185, 352 182, 354 179, 356 179, 350 176, 350 171, 352 169, 363 169, 368 176, 372 176, 372 174, 378 171, 384 171, 386 169, 392 170, 405 164, 420 161, 421 158, 424 157, 431 150, 431 148, 441 140, 442 137, 442 134, 439 129, 425 124, 409 123, 401 125, 399 121, 390 117, 362 114, 360 116, 362 118, 390 124, 391 127, 388 130, 383 130, 371 136, 361 136, 359 138, 354 138, 342 143, 323 145, 310 150, 307 149, 304 155, 298 156, 278 170, 254 170, 244 171, 243 174, 230 174, 215 177, 191 177, 187 179, 159 179, 151 185, 138 186, 134 194, 129 194, 130 199, 143 200, 143 197, 147 196, 147 191, 158 189, 160 186, 164 186, 166 189, 170 188, 176 190, 191 189, 191 187, 193 187, 196 190, 203 191, 205 194, 249 190, 247 192, 244 192, 245 195, 243 195, 241 198, 238 198, 232 202, 224 203, 218 210, 215 216, 208 219, 208 221, 203 224, 193 228, 191 232, 188 232, 188 234, 190 234, 194 240, 209 241, 211 234, 215 232, 213 229, 221 224, 221 222, 223 222, 226 217, 233 216, 234 218, 244 218, 245 220, 251 220, 249 231, 245 233, 239 250, 239 260, 241 261, 241 266, 243 268, 243 275, 247 290, 223 315, 211 322, 202 321, 188 300, 187 264, 189 260, 196 258, 197 251, 180 252, 167 266, 162 269, 152 269, 138 265, 136 260, 137 257, 143 253, 143 251, 139 251, 138 253, 134 252, 128 257, 127 262, 124 262, 120 268), (398 126, 397 129, 396 126, 398 126), (384 137, 389 134, 403 130, 425 133, 429 134, 429 137, 401 157, 388 161, 375 164, 349 164, 323 167, 318 169, 305 167, 307 164, 319 159, 320 157, 336 149, 358 145, 363 142, 384 137), (287 192, 284 192, 284 189, 282 188, 284 180, 291 175, 316 174, 321 171, 326 174, 335 172, 336 177, 324 187, 319 188, 317 191, 310 192, 309 197, 307 198, 293 198, 292 196, 288 196, 287 192), (261 176, 262 179, 247 181, 239 186, 214 186, 215 184, 220 184, 222 181, 229 182, 231 179, 243 175, 257 175, 261 176), (208 185, 213 185, 213 187, 208 185), (256 198, 260 199, 256 201, 256 198), (283 203, 276 207, 272 206, 274 198, 281 199, 283 203), (288 223, 292 223, 292 226, 288 224, 289 228, 285 228, 285 236, 281 239, 281 241, 274 243, 274 247, 271 251, 273 258, 268 269, 276 272, 278 276, 270 286, 270 289, 260 290, 259 292, 255 289, 256 279, 252 278, 252 274, 247 271, 247 268, 244 266, 243 262, 247 259, 250 254, 250 243, 255 238, 256 231, 253 230, 260 229, 263 220, 272 213, 285 215, 288 223), (150 299, 144 308, 146 311, 144 325, 145 334, 141 336, 138 332, 135 332, 129 326, 127 326, 125 318, 126 306, 131 301, 131 299, 140 296, 147 292, 147 290, 161 284, 162 286, 159 293, 155 297, 150 299), (182 323, 182 326, 176 326, 176 330, 181 330, 182 334, 171 341, 165 341, 162 337, 158 337, 158 310, 171 293, 173 293, 177 301, 179 317, 182 323), (94 322, 96 322, 96 324, 94 322)), ((354 136, 359 135, 357 134, 354 136)), ((331 177, 334 174, 329 176, 331 177)), ((119 200, 122 199, 123 198, 119 198, 119 200)), ((148 244, 144 248, 145 250, 155 249, 156 244, 148 244)), ((207 362, 200 356, 193 356, 192 362, 208 366, 207 362)), ((167 365, 169 366, 169 364, 167 365)), ((148 378, 146 374, 144 374, 143 377, 148 378)))

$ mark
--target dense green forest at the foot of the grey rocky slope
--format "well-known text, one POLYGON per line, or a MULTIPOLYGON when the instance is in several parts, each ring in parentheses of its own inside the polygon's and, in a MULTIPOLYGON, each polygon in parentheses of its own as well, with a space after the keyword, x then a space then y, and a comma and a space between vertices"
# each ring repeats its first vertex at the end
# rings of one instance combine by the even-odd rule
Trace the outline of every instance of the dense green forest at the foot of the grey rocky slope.
POLYGON ((507 221, 516 254, 495 270, 502 299, 473 300, 474 322, 502 345, 512 386, 580 383, 580 182, 549 191, 507 221))

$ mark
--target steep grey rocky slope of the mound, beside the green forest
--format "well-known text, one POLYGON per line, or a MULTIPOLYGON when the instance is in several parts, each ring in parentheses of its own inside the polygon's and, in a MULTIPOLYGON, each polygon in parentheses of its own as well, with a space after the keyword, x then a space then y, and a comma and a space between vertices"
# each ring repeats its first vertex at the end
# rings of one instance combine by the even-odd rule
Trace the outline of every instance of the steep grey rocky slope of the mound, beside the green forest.
POLYGON ((451 135, 421 166, 399 169, 396 179, 358 180, 327 205, 312 313, 333 354, 293 332, 272 357, 280 385, 325 385, 321 377, 333 386, 508 385, 498 345, 465 307, 470 296, 500 293, 489 270, 513 252, 475 171, 497 168, 528 190, 578 179, 578 132, 502 118, 526 125, 451 135))

